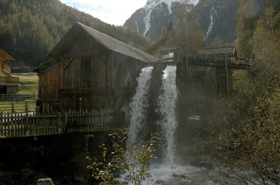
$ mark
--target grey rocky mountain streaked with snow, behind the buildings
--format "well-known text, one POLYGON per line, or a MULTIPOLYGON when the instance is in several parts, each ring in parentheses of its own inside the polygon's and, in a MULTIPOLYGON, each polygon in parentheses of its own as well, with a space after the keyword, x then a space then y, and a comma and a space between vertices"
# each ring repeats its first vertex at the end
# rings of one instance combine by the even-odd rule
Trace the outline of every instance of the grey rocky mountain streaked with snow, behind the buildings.
MULTIPOLYGON (((163 27, 176 22, 181 15, 184 0, 148 0, 126 20, 124 25, 157 41, 163 27)), ((223 43, 236 40, 236 12, 240 0, 193 0, 193 11, 198 13, 201 28, 205 32, 206 45, 219 37, 223 43)))

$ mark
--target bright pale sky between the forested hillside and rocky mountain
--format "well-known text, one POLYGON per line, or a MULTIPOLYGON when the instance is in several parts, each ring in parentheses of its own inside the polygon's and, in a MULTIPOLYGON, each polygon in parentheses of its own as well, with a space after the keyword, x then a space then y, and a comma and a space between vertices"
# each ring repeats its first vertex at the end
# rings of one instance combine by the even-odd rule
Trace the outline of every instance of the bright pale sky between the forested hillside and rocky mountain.
POLYGON ((123 25, 147 0, 60 0, 62 3, 89 13, 104 22, 123 25))

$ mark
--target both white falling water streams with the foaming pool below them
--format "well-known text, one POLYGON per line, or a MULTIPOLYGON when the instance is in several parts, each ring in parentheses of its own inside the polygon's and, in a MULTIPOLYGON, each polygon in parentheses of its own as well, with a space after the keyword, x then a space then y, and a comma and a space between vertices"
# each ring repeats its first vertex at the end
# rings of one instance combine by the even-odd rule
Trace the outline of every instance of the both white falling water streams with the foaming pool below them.
MULTIPOLYGON (((153 67, 142 69, 142 73, 137 78, 138 86, 136 88, 136 94, 130 102, 131 118, 128 136, 133 138, 130 144, 136 148, 144 143, 143 133, 145 133, 144 124, 147 115, 152 70, 153 67)), ((164 134, 164 155, 163 163, 151 164, 149 171, 154 181, 150 181, 149 184, 208 184, 211 181, 205 179, 209 178, 209 171, 204 168, 174 163, 175 133, 178 126, 175 112, 178 96, 176 70, 176 66, 167 66, 163 70, 161 94, 158 99, 159 113, 162 119, 158 123, 161 125, 164 134)), ((126 181, 127 175, 128 173, 123 174, 120 180, 123 182, 126 181)), ((126 183, 129 185, 132 184, 131 182, 126 183)), ((143 184, 146 183, 148 184, 148 181, 143 182, 143 184)), ((211 182, 209 184, 215 183, 211 182)))

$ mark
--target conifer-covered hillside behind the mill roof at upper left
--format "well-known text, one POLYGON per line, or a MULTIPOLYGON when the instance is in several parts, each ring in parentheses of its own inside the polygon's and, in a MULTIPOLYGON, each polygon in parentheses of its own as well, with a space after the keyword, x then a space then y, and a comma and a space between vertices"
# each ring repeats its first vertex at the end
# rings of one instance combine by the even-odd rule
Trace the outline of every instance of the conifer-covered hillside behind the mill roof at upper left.
POLYGON ((0 10, 0 48, 17 60, 15 65, 45 62, 48 50, 76 21, 140 49, 151 45, 130 28, 104 23, 58 0, 0 0, 0 10))

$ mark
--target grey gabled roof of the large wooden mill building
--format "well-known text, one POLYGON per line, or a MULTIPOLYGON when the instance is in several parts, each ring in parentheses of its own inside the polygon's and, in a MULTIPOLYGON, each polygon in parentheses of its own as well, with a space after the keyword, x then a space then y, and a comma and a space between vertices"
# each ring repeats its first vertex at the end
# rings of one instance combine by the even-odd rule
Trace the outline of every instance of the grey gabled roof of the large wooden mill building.
MULTIPOLYGON (((157 61, 157 59, 155 57, 147 54, 146 52, 144 52, 140 49, 137 49, 135 47, 132 47, 128 44, 125 44, 117 39, 109 37, 103 33, 100 33, 79 22, 76 22, 73 25, 73 27, 68 31, 68 33, 72 32, 73 28, 75 28, 75 29, 79 28, 79 29, 86 31, 86 33, 88 33, 90 36, 92 36, 96 41, 98 41, 100 44, 102 44, 108 50, 116 51, 120 54, 123 54, 128 57, 132 57, 136 60, 140 60, 143 62, 156 62, 157 61)), ((57 52, 55 50, 63 48, 63 46, 65 45, 64 42, 69 41, 69 39, 75 39, 75 38, 66 38, 68 36, 68 33, 48 52, 48 54, 46 55, 47 57, 53 57, 55 55, 58 55, 59 52, 57 52)))

